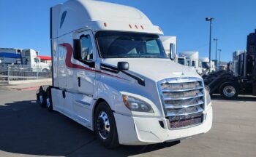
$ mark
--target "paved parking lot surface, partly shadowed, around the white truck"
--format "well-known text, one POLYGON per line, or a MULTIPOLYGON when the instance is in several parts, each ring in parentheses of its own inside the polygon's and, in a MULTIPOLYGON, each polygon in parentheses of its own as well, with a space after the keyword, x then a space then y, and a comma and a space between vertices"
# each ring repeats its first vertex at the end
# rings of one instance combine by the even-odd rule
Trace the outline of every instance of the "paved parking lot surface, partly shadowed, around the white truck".
POLYGON ((256 98, 213 97, 207 134, 181 142, 105 149, 94 133, 39 107, 35 91, 0 87, 0 156, 256 156, 256 98))

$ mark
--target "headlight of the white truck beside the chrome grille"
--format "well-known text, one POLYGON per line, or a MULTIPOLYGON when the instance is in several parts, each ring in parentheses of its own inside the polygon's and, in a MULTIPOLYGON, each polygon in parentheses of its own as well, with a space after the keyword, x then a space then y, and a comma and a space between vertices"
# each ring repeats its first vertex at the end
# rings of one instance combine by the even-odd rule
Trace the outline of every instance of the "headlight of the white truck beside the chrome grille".
POLYGON ((154 113, 154 110, 151 108, 147 102, 140 100, 135 97, 123 95, 124 105, 129 108, 129 110, 137 111, 137 112, 147 112, 147 113, 154 113))

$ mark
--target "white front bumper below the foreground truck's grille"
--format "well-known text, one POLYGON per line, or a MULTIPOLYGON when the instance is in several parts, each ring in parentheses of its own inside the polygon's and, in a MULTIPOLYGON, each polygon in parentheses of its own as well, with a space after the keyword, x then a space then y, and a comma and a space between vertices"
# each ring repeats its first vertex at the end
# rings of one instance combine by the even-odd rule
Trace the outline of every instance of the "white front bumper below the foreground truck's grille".
POLYGON ((122 145, 148 145, 159 142, 181 140, 211 129, 212 107, 204 112, 204 121, 197 126, 185 129, 168 129, 165 118, 131 117, 114 113, 118 131, 118 140, 122 145), (164 127, 159 124, 163 121, 164 127))

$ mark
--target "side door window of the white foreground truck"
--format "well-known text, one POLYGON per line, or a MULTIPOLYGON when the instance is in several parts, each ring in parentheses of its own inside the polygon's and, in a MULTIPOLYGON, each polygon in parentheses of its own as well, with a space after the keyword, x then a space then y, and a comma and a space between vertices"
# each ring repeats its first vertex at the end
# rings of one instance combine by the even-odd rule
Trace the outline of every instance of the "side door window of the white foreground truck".
POLYGON ((91 43, 91 37, 89 35, 83 36, 80 39, 81 42, 81 51, 80 51, 80 60, 90 61, 93 59, 93 47, 91 43))

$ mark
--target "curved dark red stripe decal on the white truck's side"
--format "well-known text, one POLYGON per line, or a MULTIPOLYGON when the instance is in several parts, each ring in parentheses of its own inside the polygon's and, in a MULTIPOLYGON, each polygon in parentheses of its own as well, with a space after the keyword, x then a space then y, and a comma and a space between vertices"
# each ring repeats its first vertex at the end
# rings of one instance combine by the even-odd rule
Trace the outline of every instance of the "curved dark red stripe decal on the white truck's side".
POLYGON ((62 47, 65 47, 66 50, 67 50, 67 56, 66 56, 66 59, 65 59, 65 63, 67 65, 67 67, 69 68, 77 68, 77 69, 83 69, 83 70, 86 70, 86 71, 94 71, 96 73, 102 73, 106 76, 112 76, 112 77, 115 77, 115 78, 118 78, 118 79, 123 79, 121 77, 118 77, 118 76, 114 76, 114 75, 111 75, 109 73, 104 73, 102 71, 99 71, 99 70, 96 70, 94 68, 87 68, 87 67, 84 67, 82 65, 76 65, 76 64, 73 64, 71 63, 71 58, 72 58, 72 53, 73 53, 73 48, 70 44, 67 44, 67 43, 64 43, 64 44, 59 44, 60 46, 62 47))

